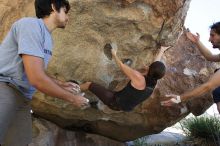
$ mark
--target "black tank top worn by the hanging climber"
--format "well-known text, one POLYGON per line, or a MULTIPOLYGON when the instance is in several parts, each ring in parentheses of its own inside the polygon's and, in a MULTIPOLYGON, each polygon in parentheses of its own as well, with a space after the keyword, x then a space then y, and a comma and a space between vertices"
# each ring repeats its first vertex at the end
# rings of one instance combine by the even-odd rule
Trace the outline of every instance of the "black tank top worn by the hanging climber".
POLYGON ((123 111, 131 111, 135 106, 146 100, 153 93, 155 85, 146 86, 143 90, 135 89, 131 85, 131 81, 127 86, 115 93, 116 102, 123 111))

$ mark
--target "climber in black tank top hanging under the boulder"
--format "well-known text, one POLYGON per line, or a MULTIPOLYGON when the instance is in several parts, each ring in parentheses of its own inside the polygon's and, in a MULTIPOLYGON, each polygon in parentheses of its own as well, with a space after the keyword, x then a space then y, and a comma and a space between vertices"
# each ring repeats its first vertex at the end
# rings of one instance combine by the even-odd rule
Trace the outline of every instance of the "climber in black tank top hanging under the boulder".
POLYGON ((112 110, 131 111, 151 96, 157 81, 164 76, 166 67, 161 62, 161 58, 163 53, 170 47, 161 46, 154 62, 149 67, 144 66, 140 71, 137 71, 118 58, 115 43, 112 43, 111 46, 112 58, 114 58, 121 71, 130 79, 129 83, 120 91, 111 91, 93 82, 81 84, 80 89, 91 91, 112 110))

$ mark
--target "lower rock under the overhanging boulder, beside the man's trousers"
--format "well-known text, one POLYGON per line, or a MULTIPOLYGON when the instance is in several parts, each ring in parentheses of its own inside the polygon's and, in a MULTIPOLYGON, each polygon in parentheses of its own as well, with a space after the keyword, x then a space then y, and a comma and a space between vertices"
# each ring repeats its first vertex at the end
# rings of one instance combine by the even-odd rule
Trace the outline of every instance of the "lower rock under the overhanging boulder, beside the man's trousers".
POLYGON ((29 146, 125 146, 103 136, 72 132, 46 120, 33 119, 33 142, 29 146))

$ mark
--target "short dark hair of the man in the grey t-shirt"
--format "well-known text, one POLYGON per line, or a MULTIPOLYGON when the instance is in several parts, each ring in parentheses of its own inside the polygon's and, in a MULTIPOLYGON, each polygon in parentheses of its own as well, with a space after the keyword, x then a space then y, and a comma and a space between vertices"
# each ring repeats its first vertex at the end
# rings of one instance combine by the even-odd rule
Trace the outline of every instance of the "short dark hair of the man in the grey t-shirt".
POLYGON ((52 4, 58 12, 62 7, 66 8, 66 13, 68 13, 70 9, 70 4, 67 0, 35 0, 34 5, 37 18, 49 16, 53 11, 52 4))

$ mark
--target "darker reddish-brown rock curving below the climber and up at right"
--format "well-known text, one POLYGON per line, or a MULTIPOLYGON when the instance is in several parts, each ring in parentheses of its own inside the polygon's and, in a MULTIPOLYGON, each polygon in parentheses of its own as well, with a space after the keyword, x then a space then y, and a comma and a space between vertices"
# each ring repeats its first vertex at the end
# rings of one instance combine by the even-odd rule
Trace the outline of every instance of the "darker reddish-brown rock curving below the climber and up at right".
MULTIPOLYGON (((159 81, 154 95, 132 112, 113 112, 108 108, 103 110, 88 108, 82 111, 41 93, 36 94, 37 98, 33 100, 34 111, 61 127, 99 133, 122 141, 158 133, 190 112, 200 115, 212 104, 210 94, 173 108, 160 106, 160 101, 164 99, 163 95, 180 94, 190 90, 205 82, 213 72, 212 64, 200 56, 184 35, 177 44, 165 54, 167 74, 159 81), (181 114, 181 109, 184 108, 187 110, 181 114)), ((90 95, 88 93, 86 97, 96 100, 90 95)))

